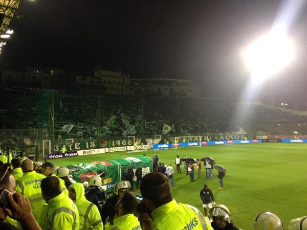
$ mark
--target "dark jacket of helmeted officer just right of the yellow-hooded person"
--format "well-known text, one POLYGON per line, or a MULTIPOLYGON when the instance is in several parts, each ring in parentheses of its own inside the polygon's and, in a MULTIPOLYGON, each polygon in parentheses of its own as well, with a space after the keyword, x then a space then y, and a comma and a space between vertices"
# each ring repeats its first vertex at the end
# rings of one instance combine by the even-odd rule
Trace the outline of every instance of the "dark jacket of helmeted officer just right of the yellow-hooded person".
POLYGON ((94 203, 102 217, 103 205, 106 202, 106 192, 98 186, 90 186, 85 189, 85 198, 94 203))

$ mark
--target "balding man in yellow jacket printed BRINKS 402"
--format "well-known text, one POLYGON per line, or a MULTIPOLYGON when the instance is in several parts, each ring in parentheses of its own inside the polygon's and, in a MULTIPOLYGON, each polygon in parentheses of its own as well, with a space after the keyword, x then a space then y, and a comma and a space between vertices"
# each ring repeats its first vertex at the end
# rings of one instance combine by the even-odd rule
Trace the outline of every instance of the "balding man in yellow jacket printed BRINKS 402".
POLYGON ((21 163, 21 169, 24 175, 16 181, 16 191, 29 199, 33 215, 38 222, 44 202, 41 196, 40 182, 46 176, 34 171, 31 159, 24 160, 21 163))

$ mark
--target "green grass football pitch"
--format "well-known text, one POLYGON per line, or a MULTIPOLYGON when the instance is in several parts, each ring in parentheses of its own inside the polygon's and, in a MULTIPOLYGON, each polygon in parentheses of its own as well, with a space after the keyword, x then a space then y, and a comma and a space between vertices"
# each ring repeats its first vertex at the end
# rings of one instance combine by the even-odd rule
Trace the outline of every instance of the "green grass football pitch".
MULTIPOLYGON (((306 216, 307 205, 307 145, 285 143, 238 144, 209 147, 188 147, 179 149, 139 152, 135 155, 159 156, 159 161, 174 167, 173 197, 182 203, 188 203, 202 212, 200 190, 204 183, 212 190, 216 204, 225 204, 236 226, 242 229, 254 229, 256 215, 262 211, 278 214, 286 229, 291 219, 306 216), (174 166, 176 155, 180 157, 201 158, 211 156, 216 164, 227 169, 224 177, 224 190, 218 190, 217 171, 213 170, 213 179, 207 180, 204 168, 202 178, 190 182, 185 170, 178 175, 174 166)), ((95 160, 114 159, 131 156, 131 153, 116 152, 54 159, 56 166, 78 163, 91 163, 95 160)), ((134 190, 135 192, 139 192, 134 190)))

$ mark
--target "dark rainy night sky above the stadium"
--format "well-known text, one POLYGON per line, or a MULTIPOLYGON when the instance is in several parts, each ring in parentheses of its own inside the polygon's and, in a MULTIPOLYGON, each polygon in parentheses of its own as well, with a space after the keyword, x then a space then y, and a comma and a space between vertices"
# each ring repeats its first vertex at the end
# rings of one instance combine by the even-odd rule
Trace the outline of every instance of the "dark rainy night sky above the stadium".
MULTIPOLYGON (((11 21, 15 33, 0 65, 78 74, 100 65, 134 78, 189 78, 235 91, 248 76, 241 51, 270 30, 280 6, 267 0, 21 0, 24 17, 11 21)), ((304 9, 291 27, 296 60, 280 78, 305 77, 306 19, 304 9)))

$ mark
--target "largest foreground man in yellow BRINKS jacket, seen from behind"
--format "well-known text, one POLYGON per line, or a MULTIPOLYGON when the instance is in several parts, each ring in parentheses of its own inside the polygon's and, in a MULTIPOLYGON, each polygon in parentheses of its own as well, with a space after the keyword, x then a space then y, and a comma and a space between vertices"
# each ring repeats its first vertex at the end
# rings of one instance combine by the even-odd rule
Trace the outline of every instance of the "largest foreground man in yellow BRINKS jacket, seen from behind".
POLYGON ((140 190, 143 202, 153 217, 153 229, 212 229, 198 209, 177 203, 172 198, 170 184, 162 173, 146 174, 140 190))

